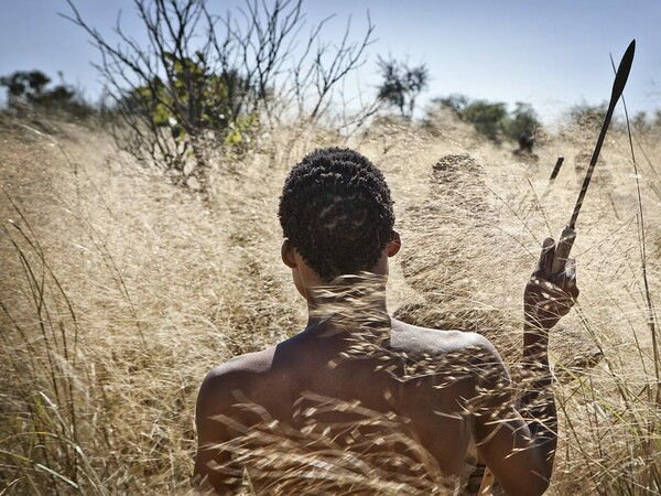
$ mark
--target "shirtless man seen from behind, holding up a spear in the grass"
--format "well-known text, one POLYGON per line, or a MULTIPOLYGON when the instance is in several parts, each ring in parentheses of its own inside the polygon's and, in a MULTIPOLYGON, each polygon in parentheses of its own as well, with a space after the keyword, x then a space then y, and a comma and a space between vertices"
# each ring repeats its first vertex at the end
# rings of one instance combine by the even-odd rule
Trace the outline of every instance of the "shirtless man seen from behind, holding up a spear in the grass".
MULTIPOLYGON (((195 481, 199 487, 232 493, 247 475, 257 494, 294 494, 278 483, 286 474, 269 477, 259 450, 239 453, 236 441, 269 422, 289 429, 282 432, 307 435, 314 429, 304 429, 310 423, 304 412, 316 410, 303 408, 302 401, 329 398, 337 405, 401 420, 402 432, 418 443, 418 451, 401 440, 388 441, 390 434, 379 433, 378 425, 356 431, 372 440, 368 443, 356 441, 354 431, 348 439, 348 422, 342 423, 350 418, 346 408, 326 408, 323 419, 315 420, 326 425, 315 431, 317 436, 332 438, 340 452, 360 445, 356 456, 369 460, 379 474, 391 472, 393 481, 407 474, 413 475, 410 481, 418 479, 420 464, 401 462, 415 452, 420 460, 426 456, 422 462, 426 471, 454 481, 449 487, 438 481, 436 493, 453 494, 473 440, 481 461, 508 494, 542 494, 556 445, 549 330, 578 295, 572 260, 564 273, 551 273, 553 240, 544 241, 525 287, 521 363, 531 380, 514 398, 506 367, 485 337, 416 327, 388 315, 388 259, 401 244, 393 230, 390 191, 369 160, 348 149, 310 153, 285 181, 279 216, 285 237, 282 260, 307 302, 307 326, 207 375, 196 412, 195 481), (346 439, 340 440, 343 435, 346 439), (375 456, 378 449, 386 450, 386 455, 375 456), (389 460, 398 462, 389 465, 389 460)), ((342 481, 337 484, 339 488, 342 481)), ((336 493, 325 487, 326 494, 336 493)))

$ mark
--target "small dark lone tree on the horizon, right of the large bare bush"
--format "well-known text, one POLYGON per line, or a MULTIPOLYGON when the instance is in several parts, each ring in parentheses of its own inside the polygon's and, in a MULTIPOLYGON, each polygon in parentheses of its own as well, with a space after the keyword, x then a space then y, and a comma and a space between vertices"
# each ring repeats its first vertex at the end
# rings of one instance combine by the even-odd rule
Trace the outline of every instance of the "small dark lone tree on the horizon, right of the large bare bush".
POLYGON ((383 82, 379 86, 379 99, 397 107, 402 117, 411 119, 415 100, 426 88, 429 69, 422 64, 410 67, 408 63, 384 60, 379 56, 377 64, 383 82))

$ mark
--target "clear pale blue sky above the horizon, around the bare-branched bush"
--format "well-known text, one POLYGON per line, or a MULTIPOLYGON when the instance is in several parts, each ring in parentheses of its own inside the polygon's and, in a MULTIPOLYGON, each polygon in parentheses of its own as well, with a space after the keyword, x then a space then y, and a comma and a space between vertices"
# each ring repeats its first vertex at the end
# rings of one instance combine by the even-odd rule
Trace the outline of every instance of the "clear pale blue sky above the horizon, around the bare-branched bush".
MULTIPOLYGON (((269 1, 269 0, 267 0, 269 1)), ((117 13, 138 40, 142 30, 132 0, 75 0, 83 17, 111 34, 117 13)), ((210 0, 221 12, 240 0, 210 0)), ((0 75, 40 68, 89 97, 101 84, 90 62, 98 61, 86 34, 57 15, 64 0, 3 0, 0 7, 0 75)), ((326 39, 338 35, 349 15, 358 33, 369 11, 376 25, 360 80, 365 93, 379 83, 377 55, 391 54, 431 74, 429 98, 464 94, 490 101, 527 101, 545 120, 575 104, 598 105, 613 84, 616 63, 637 40, 633 68, 625 90, 630 114, 661 108, 661 1, 659 0, 305 0, 308 23, 330 14, 326 39)))

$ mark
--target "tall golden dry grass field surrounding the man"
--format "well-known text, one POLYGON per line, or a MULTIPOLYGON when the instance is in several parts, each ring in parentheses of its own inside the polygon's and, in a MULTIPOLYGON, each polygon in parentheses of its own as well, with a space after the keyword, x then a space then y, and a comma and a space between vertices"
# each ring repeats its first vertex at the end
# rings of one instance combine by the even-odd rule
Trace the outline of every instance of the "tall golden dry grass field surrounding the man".
MULTIPOLYGON (((391 310, 481 332, 514 369, 523 285, 568 219, 594 142, 551 136, 524 163, 456 123, 350 139, 283 128, 230 168, 219 157, 205 203, 140 170, 99 127, 3 118, 0 138, 0 494, 189 490, 206 371, 304 323, 275 212, 289 168, 318 145, 356 147, 391 185, 403 239, 391 310)), ((579 304, 552 335, 552 494, 661 492, 646 299, 660 290, 661 150, 655 134, 635 138, 649 284, 629 145, 611 133, 577 226, 579 304)))

